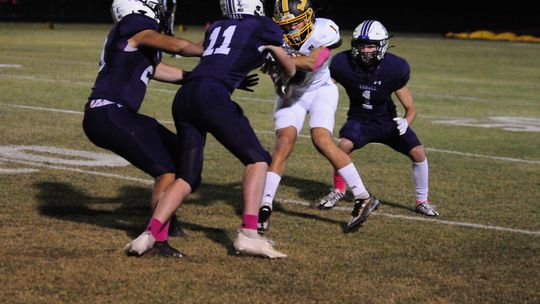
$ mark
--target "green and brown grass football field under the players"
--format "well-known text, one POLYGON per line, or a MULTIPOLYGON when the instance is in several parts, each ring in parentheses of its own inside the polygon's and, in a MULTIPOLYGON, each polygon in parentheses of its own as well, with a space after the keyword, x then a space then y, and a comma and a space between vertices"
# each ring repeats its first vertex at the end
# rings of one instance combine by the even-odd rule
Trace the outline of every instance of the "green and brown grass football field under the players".
MULTIPOLYGON (((540 303, 540 44, 391 39, 412 68, 412 127, 440 217, 414 212, 409 159, 370 145, 354 161, 383 205, 343 233, 351 197, 311 207, 332 168, 304 129, 269 234, 289 257, 237 256, 243 167, 210 136, 203 185, 177 213, 187 236, 170 240, 188 258, 171 260, 124 256, 149 218, 152 181, 82 131, 109 27, 0 24, 0 302, 540 303)), ((271 151, 272 85, 260 76, 234 99, 271 151)), ((151 82, 142 112, 174 130, 175 92, 151 82)), ((348 107, 340 93, 334 134, 348 107)))

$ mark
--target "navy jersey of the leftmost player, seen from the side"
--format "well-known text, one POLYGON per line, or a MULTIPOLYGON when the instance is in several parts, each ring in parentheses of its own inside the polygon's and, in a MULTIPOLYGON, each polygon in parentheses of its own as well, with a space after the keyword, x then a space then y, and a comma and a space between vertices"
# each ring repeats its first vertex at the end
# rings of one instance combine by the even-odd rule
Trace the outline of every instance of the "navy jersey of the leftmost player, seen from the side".
POLYGON ((161 51, 128 45, 129 38, 144 30, 159 32, 159 24, 150 17, 131 14, 114 25, 105 41, 89 99, 107 99, 133 112, 139 110, 148 81, 161 62, 161 51))

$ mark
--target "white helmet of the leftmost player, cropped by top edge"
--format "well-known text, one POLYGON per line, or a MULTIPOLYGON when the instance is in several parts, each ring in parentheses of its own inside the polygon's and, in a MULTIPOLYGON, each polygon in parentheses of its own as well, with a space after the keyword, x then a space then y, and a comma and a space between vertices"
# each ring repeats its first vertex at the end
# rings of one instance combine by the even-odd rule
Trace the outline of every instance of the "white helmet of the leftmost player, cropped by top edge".
POLYGON ((165 11, 160 0, 114 0, 111 5, 114 22, 130 14, 141 14, 166 25, 165 11))

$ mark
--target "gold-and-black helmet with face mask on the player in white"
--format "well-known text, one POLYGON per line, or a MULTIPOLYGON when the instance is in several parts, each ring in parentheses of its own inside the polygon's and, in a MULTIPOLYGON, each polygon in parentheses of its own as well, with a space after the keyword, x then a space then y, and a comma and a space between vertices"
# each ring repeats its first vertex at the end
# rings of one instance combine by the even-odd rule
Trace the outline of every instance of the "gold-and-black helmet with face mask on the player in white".
POLYGON ((313 31, 313 8, 309 0, 277 0, 274 22, 284 30, 283 39, 299 48, 313 31))

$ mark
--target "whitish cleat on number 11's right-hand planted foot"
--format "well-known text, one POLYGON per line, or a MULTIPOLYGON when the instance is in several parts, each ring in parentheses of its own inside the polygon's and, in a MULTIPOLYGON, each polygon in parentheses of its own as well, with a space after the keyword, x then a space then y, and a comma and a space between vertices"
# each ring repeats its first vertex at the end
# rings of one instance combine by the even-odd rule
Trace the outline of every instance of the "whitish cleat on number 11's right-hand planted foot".
POLYGON ((234 241, 234 248, 236 249, 237 254, 242 253, 270 259, 287 257, 286 254, 274 249, 272 241, 259 236, 254 230, 253 233, 246 230, 247 229, 240 229, 240 231, 238 231, 238 237, 234 241))

